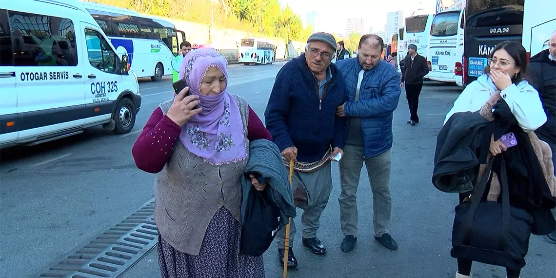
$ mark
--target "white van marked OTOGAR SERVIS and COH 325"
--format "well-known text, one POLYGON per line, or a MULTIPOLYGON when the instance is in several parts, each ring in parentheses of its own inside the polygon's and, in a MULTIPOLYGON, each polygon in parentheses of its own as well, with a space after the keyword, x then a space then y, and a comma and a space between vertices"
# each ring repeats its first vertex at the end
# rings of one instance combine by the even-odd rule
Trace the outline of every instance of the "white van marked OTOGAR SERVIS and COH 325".
POLYGON ((0 148, 131 131, 141 95, 127 60, 78 1, 0 2, 0 148))

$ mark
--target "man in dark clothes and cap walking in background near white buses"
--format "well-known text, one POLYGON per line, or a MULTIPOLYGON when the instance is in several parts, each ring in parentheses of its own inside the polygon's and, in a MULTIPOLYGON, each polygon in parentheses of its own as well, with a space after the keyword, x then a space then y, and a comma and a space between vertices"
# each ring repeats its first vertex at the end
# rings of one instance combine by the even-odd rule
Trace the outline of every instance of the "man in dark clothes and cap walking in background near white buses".
POLYGON ((404 59, 404 72, 401 75, 400 87, 404 87, 408 99, 410 118, 408 123, 414 126, 419 123, 417 109, 419 108, 419 95, 423 89, 423 77, 429 73, 425 57, 417 53, 417 46, 411 43, 408 46, 408 56, 404 59))

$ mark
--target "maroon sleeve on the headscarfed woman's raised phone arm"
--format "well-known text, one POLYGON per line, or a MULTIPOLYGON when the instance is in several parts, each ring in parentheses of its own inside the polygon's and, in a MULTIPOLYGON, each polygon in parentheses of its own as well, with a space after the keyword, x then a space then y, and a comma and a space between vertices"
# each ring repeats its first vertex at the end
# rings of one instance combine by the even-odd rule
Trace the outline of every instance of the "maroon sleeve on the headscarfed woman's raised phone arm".
POLYGON ((180 126, 156 108, 131 149, 137 168, 149 173, 162 171, 180 132, 180 126))

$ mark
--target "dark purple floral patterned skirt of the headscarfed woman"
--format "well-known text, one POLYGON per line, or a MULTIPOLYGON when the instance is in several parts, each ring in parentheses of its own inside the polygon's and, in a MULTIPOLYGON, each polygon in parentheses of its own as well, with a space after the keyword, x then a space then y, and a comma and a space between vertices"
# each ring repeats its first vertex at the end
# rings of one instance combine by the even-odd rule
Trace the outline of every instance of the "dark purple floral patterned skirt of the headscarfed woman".
POLYGON ((241 225, 221 207, 207 227, 199 255, 174 249, 158 235, 162 278, 264 278, 262 256, 240 254, 241 225))

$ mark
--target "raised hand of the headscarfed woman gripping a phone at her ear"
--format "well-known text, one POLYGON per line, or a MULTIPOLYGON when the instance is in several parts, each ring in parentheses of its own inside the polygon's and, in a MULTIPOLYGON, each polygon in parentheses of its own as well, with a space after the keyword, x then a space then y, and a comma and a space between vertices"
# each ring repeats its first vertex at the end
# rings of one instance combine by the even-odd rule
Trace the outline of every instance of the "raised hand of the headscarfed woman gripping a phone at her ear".
POLYGON ((201 108, 195 108, 199 105, 199 97, 196 95, 188 95, 189 87, 183 88, 174 98, 174 102, 166 113, 166 116, 175 122, 176 125, 182 127, 193 116, 201 112, 201 108))

